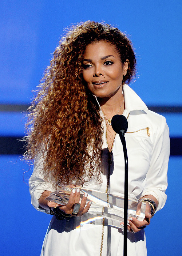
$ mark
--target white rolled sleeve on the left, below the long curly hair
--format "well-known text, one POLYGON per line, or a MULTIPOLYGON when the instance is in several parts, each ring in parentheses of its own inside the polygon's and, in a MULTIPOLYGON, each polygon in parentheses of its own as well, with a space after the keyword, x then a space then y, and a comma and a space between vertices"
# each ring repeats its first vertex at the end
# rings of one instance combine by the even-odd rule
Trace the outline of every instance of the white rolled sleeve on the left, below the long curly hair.
POLYGON ((41 194, 45 191, 54 192, 55 188, 51 185, 50 182, 44 181, 43 177, 43 157, 38 155, 34 162, 33 173, 29 178, 29 192, 31 195, 31 203, 36 210, 46 212, 50 214, 50 211, 45 210, 39 206, 39 198, 41 194))

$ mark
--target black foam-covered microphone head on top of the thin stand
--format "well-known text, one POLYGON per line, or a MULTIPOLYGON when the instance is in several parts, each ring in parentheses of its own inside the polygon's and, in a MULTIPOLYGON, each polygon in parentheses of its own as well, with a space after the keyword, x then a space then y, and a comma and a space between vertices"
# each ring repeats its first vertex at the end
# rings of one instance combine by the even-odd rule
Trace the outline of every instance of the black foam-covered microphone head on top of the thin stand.
POLYGON ((125 133, 128 129, 128 121, 123 115, 115 115, 111 120, 112 129, 116 133, 125 133))

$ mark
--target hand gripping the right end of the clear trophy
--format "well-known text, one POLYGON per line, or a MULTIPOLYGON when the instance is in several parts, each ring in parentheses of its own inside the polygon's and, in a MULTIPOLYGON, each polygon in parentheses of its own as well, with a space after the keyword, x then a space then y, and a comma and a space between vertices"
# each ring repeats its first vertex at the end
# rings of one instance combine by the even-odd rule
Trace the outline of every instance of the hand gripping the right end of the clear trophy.
MULTIPOLYGON (((151 208, 150 208, 149 204, 146 203, 145 219, 143 221, 138 221, 138 219, 136 219, 134 217, 129 218, 128 223, 127 223, 128 230, 130 232, 137 233, 141 229, 145 229, 145 227, 150 224, 150 218, 151 218, 150 211, 151 211, 151 208)), ((124 223, 122 222, 120 224, 123 225, 124 223)))

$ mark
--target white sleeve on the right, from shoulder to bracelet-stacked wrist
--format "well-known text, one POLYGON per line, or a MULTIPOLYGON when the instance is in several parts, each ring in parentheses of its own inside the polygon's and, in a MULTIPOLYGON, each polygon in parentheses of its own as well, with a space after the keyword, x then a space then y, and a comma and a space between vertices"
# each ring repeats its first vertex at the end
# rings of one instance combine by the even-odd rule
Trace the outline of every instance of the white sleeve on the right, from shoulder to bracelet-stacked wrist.
MULTIPOLYGON (((162 120, 161 120, 162 118, 162 120)), ((142 196, 153 195, 158 200, 157 211, 166 203, 167 168, 170 154, 169 128, 165 117, 158 124, 146 185, 142 196)))

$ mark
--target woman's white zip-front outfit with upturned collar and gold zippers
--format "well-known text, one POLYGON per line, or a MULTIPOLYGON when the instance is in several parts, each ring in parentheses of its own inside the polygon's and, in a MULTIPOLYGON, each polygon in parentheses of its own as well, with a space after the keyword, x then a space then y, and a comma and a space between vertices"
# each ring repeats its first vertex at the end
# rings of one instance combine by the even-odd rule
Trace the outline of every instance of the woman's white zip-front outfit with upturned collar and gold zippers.
MULTIPOLYGON (((170 142, 169 129, 163 116, 150 111, 139 96, 127 85, 123 86, 125 110, 123 115, 128 117, 128 130, 125 134, 128 154, 128 195, 140 199, 145 195, 153 195, 158 200, 157 211, 166 202, 167 166, 169 161, 170 142), (129 114, 129 116, 128 116, 129 114), (147 135, 149 127, 150 136, 147 135)), ((105 161, 107 151, 106 125, 103 120, 103 155, 102 155, 102 184, 95 180, 85 182, 84 187, 102 192, 106 190, 108 164, 105 161)), ((116 134, 112 150, 109 193, 124 195, 124 156, 119 135, 116 134)), ((39 207, 38 199, 45 190, 55 191, 55 188, 45 182, 40 174, 42 158, 37 157, 34 170, 29 179, 32 205, 38 210, 49 213, 39 207)), ((92 211, 96 206, 91 204, 92 211)), ((156 211, 156 212, 157 212, 156 211)), ((92 215, 93 217, 93 215, 92 215)), ((44 239, 41 256, 99 256, 101 244, 101 225, 91 225, 85 220, 92 218, 88 213, 82 217, 72 217, 70 221, 51 219, 44 239), (81 225, 80 225, 81 222, 81 225), (83 222, 86 223, 83 225, 83 222)), ((146 241, 144 229, 138 233, 128 232, 128 256, 146 256, 146 241)), ((102 256, 123 255, 123 231, 120 228, 104 227, 102 256)))

